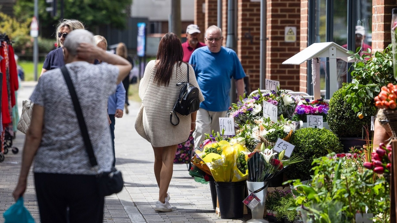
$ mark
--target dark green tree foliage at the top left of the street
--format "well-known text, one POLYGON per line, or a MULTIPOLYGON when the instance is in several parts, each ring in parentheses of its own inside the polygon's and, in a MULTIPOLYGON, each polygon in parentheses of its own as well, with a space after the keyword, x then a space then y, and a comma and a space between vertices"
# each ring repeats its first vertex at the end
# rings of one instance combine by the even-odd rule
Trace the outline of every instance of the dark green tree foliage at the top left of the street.
MULTIPOLYGON (((46 7, 50 5, 45 0, 39 0, 39 22, 42 27, 52 27, 60 19, 60 1, 57 1, 57 15, 52 18, 46 7)), ((99 25, 112 25, 123 29, 126 21, 126 9, 132 0, 64 0, 64 18, 77 19, 85 27, 93 30, 99 25)), ((15 17, 21 21, 33 17, 34 5, 32 0, 17 0, 14 6, 15 17)))

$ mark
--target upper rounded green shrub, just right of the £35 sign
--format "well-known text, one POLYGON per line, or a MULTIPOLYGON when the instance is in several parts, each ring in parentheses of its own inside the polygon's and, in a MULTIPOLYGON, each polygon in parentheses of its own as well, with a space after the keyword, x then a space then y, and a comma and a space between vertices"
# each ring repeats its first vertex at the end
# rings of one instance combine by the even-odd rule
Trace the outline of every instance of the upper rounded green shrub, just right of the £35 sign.
MULTIPOLYGON (((328 126, 339 137, 361 137, 363 126, 370 125, 371 116, 365 116, 362 119, 357 117, 357 113, 352 110, 351 104, 348 104, 343 96, 346 86, 343 84, 343 87, 335 91, 330 99, 328 126)), ((370 108, 363 113, 370 113, 370 108)))

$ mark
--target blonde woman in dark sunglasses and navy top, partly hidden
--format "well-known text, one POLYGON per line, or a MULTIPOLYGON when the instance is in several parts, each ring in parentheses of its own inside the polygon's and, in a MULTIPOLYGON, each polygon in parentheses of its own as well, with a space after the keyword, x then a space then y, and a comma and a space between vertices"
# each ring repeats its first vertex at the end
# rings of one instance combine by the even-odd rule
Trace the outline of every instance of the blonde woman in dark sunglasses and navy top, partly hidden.
POLYGON ((56 27, 56 46, 55 50, 50 51, 47 54, 46 60, 44 60, 41 74, 48 70, 52 70, 65 65, 64 63, 64 50, 62 46, 66 36, 75 29, 84 29, 84 25, 81 21, 76 19, 63 19, 56 27))

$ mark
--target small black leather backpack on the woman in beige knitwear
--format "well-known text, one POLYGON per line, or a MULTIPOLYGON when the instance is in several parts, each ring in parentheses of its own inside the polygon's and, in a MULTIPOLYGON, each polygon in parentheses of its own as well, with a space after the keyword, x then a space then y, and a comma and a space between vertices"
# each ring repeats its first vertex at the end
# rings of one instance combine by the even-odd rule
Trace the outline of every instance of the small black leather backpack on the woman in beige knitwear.
POLYGON ((189 64, 187 64, 187 82, 177 83, 176 85, 183 86, 179 92, 178 100, 170 112, 170 122, 172 125, 179 124, 179 117, 175 112, 181 115, 189 115, 193 112, 196 112, 198 108, 200 108, 200 99, 198 99, 198 94, 200 92, 197 87, 189 83, 189 64), (176 124, 172 122, 173 114, 175 114, 178 121, 176 124))

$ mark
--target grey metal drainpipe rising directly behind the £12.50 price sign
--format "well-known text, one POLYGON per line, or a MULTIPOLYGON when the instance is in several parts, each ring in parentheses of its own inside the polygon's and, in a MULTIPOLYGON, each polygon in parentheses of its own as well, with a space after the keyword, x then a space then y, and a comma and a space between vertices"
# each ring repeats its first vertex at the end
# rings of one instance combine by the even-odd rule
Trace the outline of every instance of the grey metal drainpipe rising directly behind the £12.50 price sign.
POLYGON ((259 87, 266 86, 266 0, 260 1, 260 68, 259 87))

